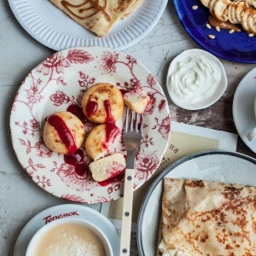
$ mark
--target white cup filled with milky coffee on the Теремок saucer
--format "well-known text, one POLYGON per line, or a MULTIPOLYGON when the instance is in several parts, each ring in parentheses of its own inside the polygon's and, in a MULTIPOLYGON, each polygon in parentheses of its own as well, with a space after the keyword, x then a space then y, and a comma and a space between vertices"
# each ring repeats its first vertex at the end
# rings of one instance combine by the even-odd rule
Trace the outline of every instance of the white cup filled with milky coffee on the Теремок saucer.
MULTIPOLYGON (((65 253, 69 255, 67 250, 73 250, 72 246, 74 247, 74 250, 80 249, 79 253, 81 253, 81 251, 84 250, 84 247, 87 247, 88 250, 92 251, 91 241, 87 241, 89 239, 89 236, 90 239, 97 243, 97 248, 101 247, 103 248, 103 251, 105 250, 105 253, 101 255, 113 256, 111 244, 108 241, 108 237, 105 236, 102 230, 97 228, 94 224, 90 224, 89 222, 79 218, 61 218, 56 219, 50 222, 49 224, 45 224, 41 229, 39 229, 35 233, 34 236, 32 236, 32 240, 29 242, 28 247, 26 248, 26 256, 42 256, 42 248, 46 249, 46 247, 47 250, 50 250, 51 252, 54 251, 54 253, 57 253, 56 250, 60 250, 60 253, 57 254, 63 256, 66 255, 63 254, 63 251, 65 251, 65 253), (70 235, 70 229, 79 230, 77 230, 78 233, 74 232, 73 230, 72 234, 75 235, 70 235), (86 236, 86 242, 84 238, 82 238, 84 236, 86 236), (56 237, 58 237, 59 239, 57 239, 56 237), (36 253, 37 250, 39 253, 36 253)), ((95 253, 91 252, 91 254, 86 255, 94 254, 95 253)))

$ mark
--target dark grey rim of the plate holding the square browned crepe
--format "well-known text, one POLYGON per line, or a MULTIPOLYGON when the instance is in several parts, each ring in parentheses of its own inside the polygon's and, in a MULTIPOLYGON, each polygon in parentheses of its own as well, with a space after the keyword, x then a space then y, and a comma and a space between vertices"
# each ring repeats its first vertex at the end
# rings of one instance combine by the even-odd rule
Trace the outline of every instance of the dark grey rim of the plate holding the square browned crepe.
POLYGON ((160 183, 162 178, 165 177, 167 173, 172 172, 172 170, 175 169, 177 166, 183 164, 184 162, 186 162, 188 160, 193 160, 193 159, 196 159, 199 157, 204 157, 206 155, 211 155, 211 154, 226 154, 226 155, 238 157, 243 160, 248 160, 248 161, 252 162, 254 165, 256 165, 256 159, 254 159, 251 156, 248 156, 247 154, 241 154, 238 152, 232 152, 232 151, 223 150, 223 149, 212 149, 212 150, 204 150, 204 151, 201 151, 201 152, 198 152, 195 154, 189 154, 189 155, 183 157, 182 159, 175 161, 172 165, 166 167, 166 169, 163 172, 161 172, 158 177, 155 178, 154 183, 152 183, 151 186, 149 187, 146 195, 143 198, 142 205, 140 207, 140 212, 139 212, 138 220, 137 220, 137 223, 138 223, 137 224, 137 247, 138 247, 139 255, 142 255, 142 256, 145 255, 144 250, 143 250, 143 240, 142 240, 143 221, 140 221, 140 220, 142 220, 142 218, 143 218, 146 206, 148 204, 149 197, 153 193, 155 187, 160 183))

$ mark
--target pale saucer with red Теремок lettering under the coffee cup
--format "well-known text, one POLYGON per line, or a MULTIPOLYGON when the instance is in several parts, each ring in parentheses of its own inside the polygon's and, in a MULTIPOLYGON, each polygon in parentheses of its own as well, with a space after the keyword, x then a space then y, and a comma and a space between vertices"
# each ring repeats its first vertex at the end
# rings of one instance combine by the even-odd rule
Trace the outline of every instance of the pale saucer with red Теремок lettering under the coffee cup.
MULTIPOLYGON (((24 256, 26 254, 26 247, 28 246, 29 241, 32 236, 46 224, 46 221, 49 218, 54 218, 61 216, 70 215, 70 218, 81 218, 89 221, 91 224, 95 224, 102 232, 108 237, 110 244, 113 248, 113 255, 118 255, 119 253, 119 234, 118 231, 113 227, 113 224, 104 217, 101 213, 96 212, 95 210, 74 205, 61 205, 56 207, 50 207, 43 212, 39 212, 34 216, 21 230, 20 235, 15 244, 15 253, 14 256, 24 256)), ((68 218, 66 216, 65 218, 68 218)))

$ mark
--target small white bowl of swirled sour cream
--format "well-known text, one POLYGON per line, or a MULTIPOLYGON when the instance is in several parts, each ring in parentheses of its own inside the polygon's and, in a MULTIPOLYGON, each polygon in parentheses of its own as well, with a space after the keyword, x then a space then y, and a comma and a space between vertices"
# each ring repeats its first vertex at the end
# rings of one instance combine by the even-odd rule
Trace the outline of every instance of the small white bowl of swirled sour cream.
POLYGON ((166 86, 177 107, 207 108, 223 96, 227 77, 222 63, 203 49, 188 49, 170 64, 166 86))

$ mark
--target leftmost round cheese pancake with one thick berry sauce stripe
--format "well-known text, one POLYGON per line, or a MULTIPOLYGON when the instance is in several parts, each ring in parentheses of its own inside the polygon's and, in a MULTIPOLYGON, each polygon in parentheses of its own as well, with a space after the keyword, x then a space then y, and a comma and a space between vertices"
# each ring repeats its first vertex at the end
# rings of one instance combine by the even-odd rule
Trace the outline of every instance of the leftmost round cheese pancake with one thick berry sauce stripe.
POLYGON ((73 154, 84 142, 84 125, 73 113, 56 112, 46 119, 43 139, 45 145, 59 154, 73 154))

